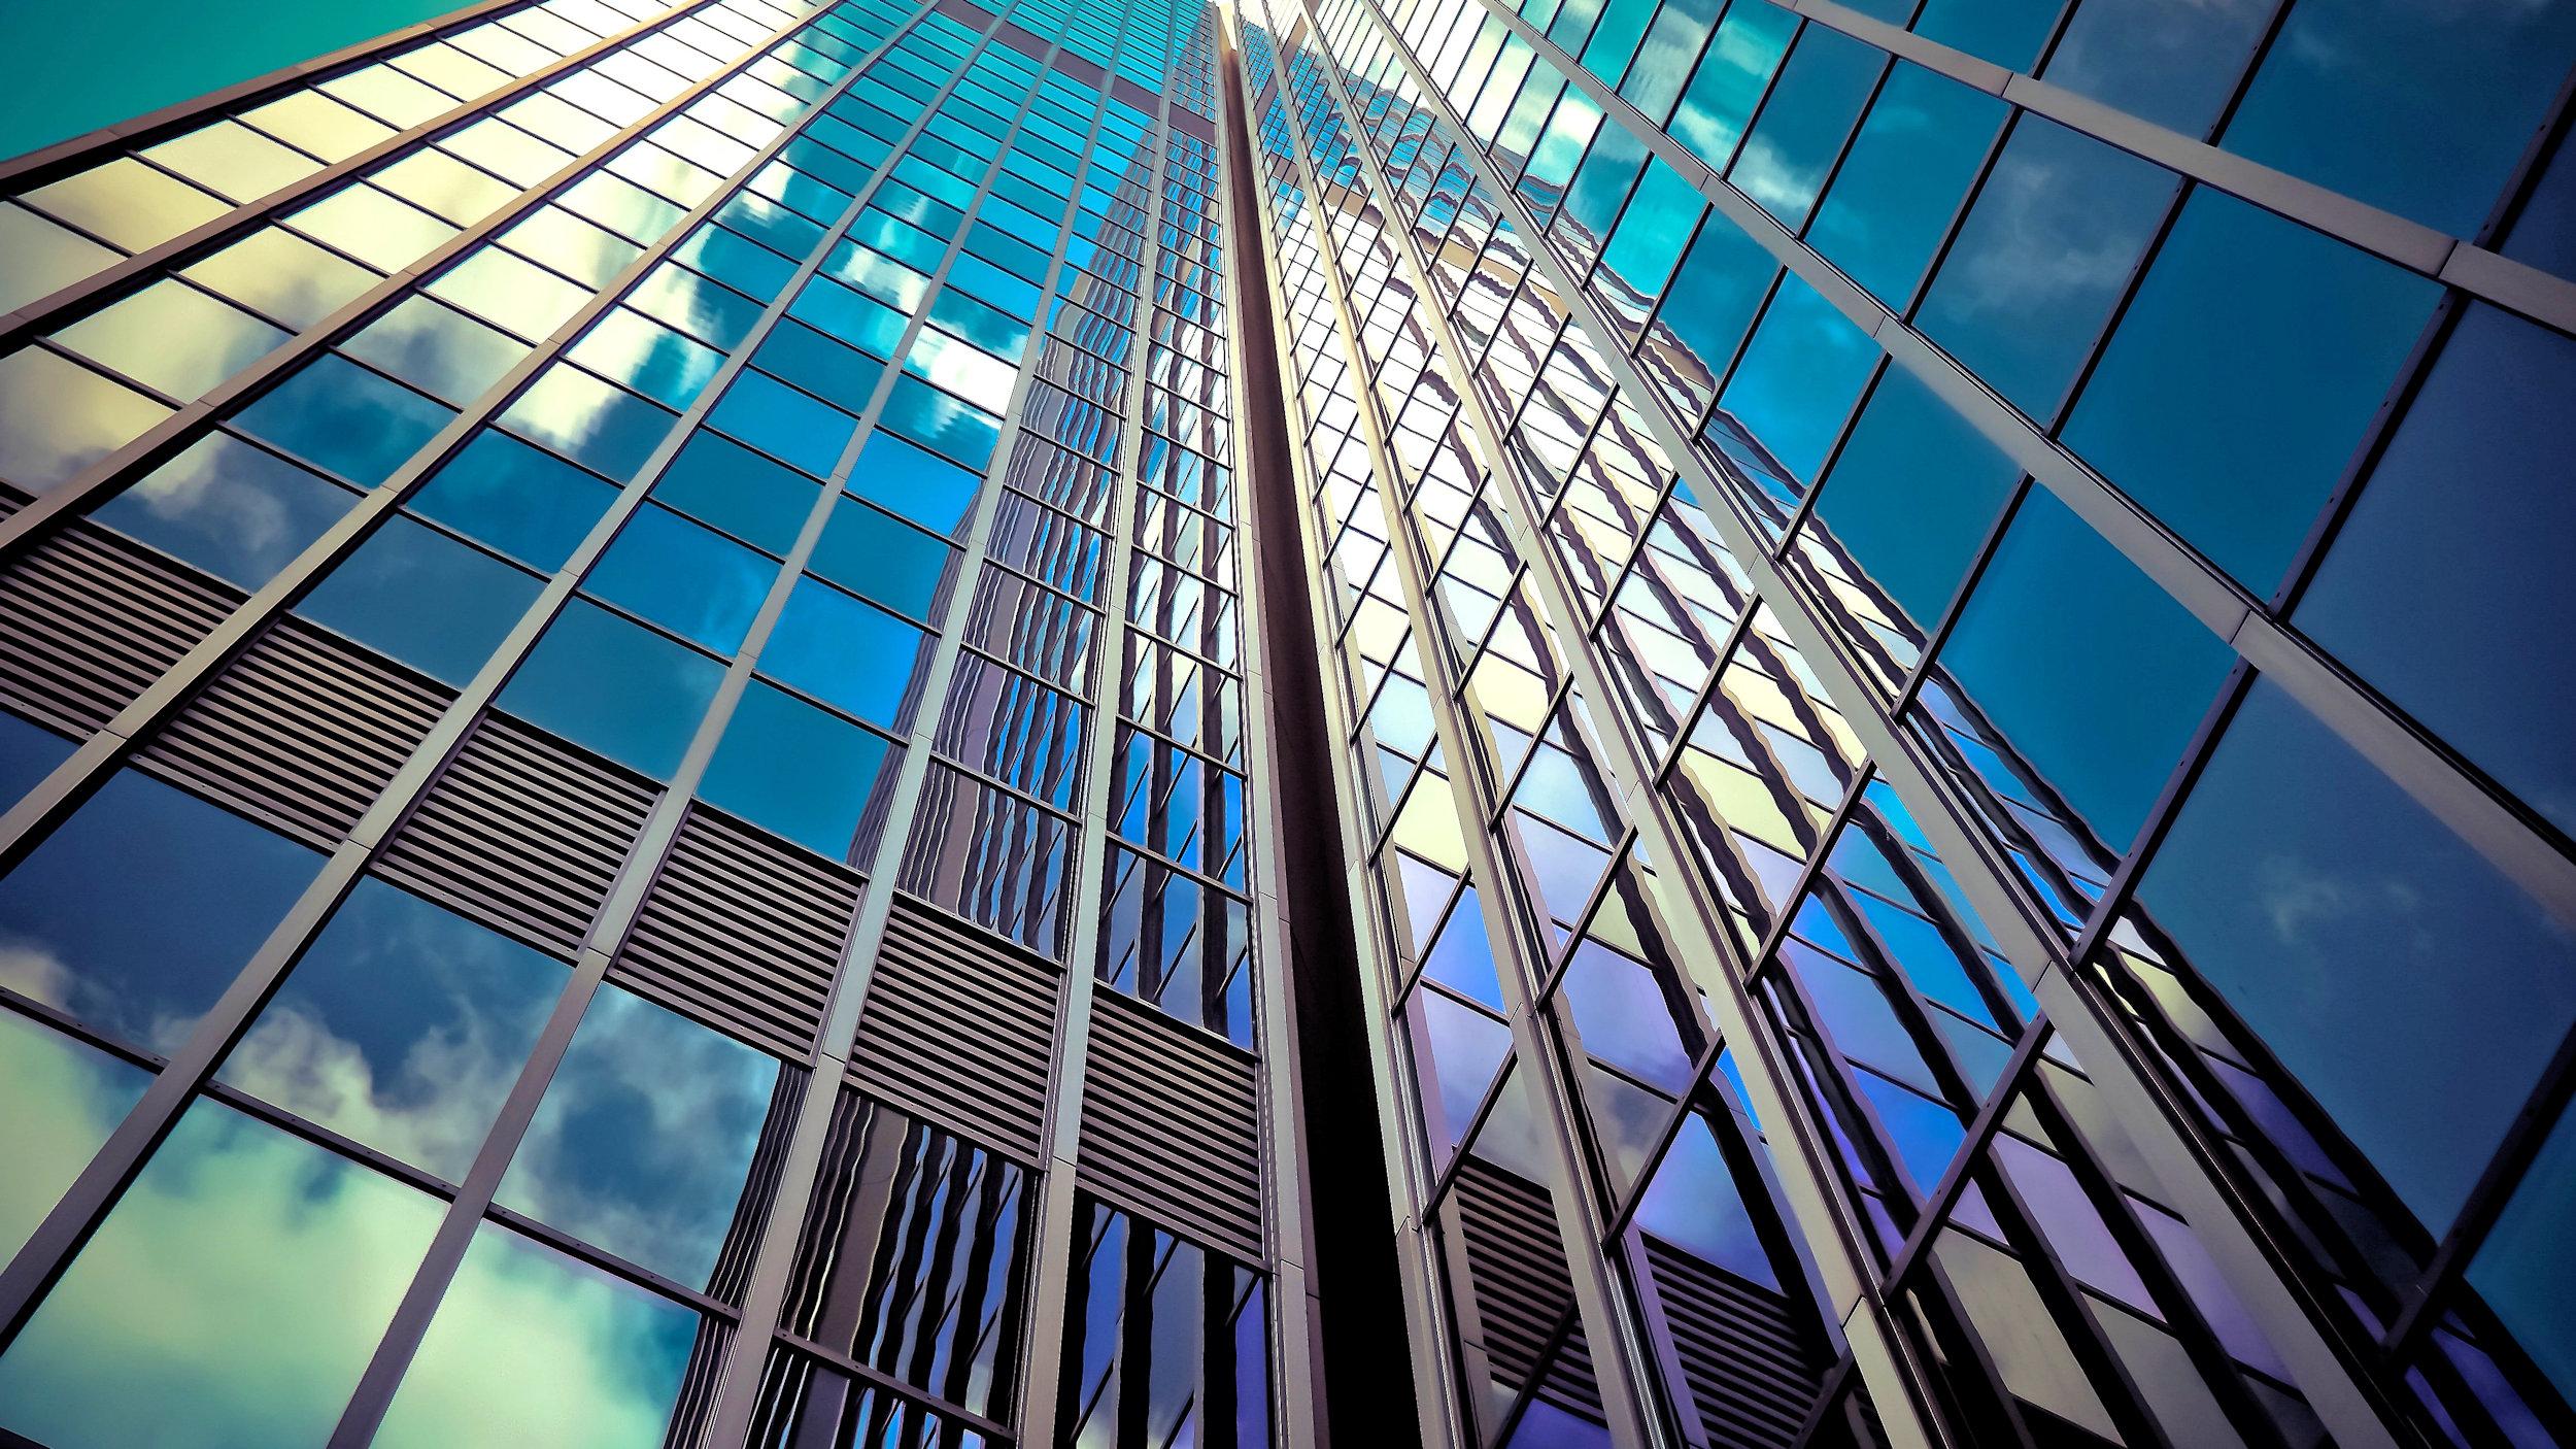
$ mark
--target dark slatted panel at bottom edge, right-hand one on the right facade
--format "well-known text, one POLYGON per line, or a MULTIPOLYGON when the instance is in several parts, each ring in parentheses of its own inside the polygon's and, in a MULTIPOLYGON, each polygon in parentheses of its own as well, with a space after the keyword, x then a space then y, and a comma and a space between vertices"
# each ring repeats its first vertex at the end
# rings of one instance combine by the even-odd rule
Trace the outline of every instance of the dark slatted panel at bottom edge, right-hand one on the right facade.
POLYGON ((1788 1302, 1654 1238, 1646 1238, 1646 1261, 1710 1444, 1793 1444, 1816 1403, 1821 1364, 1788 1302))

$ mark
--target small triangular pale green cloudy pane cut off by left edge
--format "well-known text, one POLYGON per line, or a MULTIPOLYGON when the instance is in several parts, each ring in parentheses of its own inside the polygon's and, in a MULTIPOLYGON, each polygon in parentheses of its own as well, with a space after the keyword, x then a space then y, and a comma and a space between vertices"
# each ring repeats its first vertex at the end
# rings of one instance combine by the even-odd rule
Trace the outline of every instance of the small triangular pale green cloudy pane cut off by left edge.
POLYGON ((41 1021, 0 1011, 0 1258, 26 1245, 46 1212, 134 1111, 152 1073, 41 1021))

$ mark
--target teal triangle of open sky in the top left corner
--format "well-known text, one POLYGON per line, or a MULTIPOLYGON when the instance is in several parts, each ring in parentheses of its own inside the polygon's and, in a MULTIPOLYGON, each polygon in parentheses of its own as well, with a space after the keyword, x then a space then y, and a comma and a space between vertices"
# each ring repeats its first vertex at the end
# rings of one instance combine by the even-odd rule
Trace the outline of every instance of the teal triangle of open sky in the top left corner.
POLYGON ((0 0, 0 157, 399 31, 466 0, 0 0))

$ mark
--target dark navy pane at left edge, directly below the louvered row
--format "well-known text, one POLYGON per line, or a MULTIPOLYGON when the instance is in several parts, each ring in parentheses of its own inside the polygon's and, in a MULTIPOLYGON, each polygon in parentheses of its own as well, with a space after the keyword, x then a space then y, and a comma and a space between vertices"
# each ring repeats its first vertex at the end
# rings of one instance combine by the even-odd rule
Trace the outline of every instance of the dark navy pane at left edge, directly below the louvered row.
POLYGON ((170 1055, 322 856, 121 771, 0 877, 0 985, 170 1055))

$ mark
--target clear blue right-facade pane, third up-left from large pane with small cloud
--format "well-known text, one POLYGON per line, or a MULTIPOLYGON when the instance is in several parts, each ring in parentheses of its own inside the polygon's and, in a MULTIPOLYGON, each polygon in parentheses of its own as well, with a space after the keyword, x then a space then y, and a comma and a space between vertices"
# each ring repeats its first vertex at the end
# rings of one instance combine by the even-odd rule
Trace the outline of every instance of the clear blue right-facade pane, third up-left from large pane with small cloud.
MULTIPOLYGON (((1783 276, 1718 410, 1731 413, 1793 477, 1814 480, 1878 356, 1878 343, 1824 294, 1783 276)), ((1759 462, 1749 467, 1770 472, 1759 462)))

